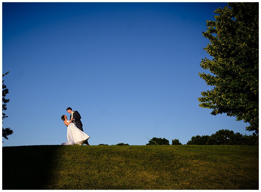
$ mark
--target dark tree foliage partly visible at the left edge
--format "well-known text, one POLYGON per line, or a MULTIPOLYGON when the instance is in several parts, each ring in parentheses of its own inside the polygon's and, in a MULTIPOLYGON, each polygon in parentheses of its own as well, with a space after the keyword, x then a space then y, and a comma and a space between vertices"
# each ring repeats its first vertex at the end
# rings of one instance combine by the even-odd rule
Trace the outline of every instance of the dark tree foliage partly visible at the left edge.
MULTIPOLYGON (((3 78, 5 75, 7 75, 8 73, 9 73, 9 71, 6 72, 5 74, 3 74, 3 75, 2 75, 2 78, 3 78)), ((6 114, 3 112, 3 111, 5 111, 5 110, 7 110, 6 105, 7 105, 7 103, 8 103, 9 100, 10 100, 10 99, 6 99, 6 98, 5 98, 8 93, 9 93, 9 90, 8 90, 8 88, 6 87, 6 85, 4 84, 4 80, 2 80, 2 123, 4 123, 4 122, 3 122, 3 119, 5 119, 5 118, 8 117, 8 116, 6 116, 6 114)), ((8 127, 8 128, 3 128, 3 127, 2 127, 2 137, 4 137, 5 139, 8 139, 7 136, 12 135, 12 134, 13 134, 13 130, 11 130, 9 127, 8 127)), ((3 141, 2 141, 2 143, 3 143, 3 141)))

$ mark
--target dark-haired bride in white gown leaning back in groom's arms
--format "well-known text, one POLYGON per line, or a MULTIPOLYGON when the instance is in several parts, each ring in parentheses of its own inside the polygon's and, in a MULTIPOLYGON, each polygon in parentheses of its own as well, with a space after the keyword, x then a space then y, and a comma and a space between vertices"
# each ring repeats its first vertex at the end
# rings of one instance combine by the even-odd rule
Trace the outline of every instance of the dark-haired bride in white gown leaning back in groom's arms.
POLYGON ((72 123, 72 120, 68 120, 66 115, 62 116, 62 120, 67 128, 67 140, 68 142, 62 143, 62 145, 84 145, 88 144, 88 139, 90 136, 88 136, 86 133, 82 132, 74 123, 72 123))

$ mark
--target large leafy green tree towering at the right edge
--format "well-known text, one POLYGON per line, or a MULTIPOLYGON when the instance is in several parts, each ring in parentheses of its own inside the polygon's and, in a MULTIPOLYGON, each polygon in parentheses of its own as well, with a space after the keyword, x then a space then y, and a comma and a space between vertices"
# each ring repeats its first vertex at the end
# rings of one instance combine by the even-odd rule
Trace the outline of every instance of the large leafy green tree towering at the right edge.
POLYGON ((210 91, 198 98, 200 107, 212 115, 226 113, 250 123, 248 131, 258 134, 258 3, 228 3, 214 11, 216 21, 206 21, 203 36, 210 40, 200 66, 211 73, 199 73, 210 91))

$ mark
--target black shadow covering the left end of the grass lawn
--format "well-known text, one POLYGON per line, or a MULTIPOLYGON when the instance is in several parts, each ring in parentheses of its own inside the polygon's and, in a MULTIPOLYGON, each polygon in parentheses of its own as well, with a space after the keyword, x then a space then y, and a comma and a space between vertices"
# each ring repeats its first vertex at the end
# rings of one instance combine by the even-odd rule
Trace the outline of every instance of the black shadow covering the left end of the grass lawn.
POLYGON ((43 189, 61 145, 3 147, 3 190, 43 189))

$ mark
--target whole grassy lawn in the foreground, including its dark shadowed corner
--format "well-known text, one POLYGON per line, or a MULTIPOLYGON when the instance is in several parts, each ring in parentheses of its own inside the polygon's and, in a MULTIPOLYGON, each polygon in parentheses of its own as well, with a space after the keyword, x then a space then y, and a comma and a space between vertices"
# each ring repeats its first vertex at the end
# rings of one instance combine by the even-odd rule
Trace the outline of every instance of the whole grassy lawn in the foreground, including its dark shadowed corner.
POLYGON ((258 189, 258 146, 3 147, 3 189, 258 189))

